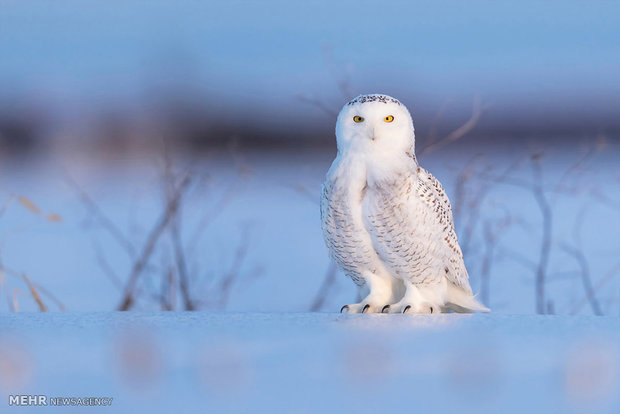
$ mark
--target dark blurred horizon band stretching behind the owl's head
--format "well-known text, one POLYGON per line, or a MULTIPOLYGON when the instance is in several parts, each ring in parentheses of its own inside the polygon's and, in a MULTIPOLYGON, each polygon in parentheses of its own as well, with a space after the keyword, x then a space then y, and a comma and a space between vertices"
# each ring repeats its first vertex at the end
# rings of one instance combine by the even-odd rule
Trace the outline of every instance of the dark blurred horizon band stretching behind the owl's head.
MULTIPOLYGON (((401 101, 407 102, 403 97, 401 101)), ((449 110, 445 103, 420 103, 421 109, 412 111, 418 142, 448 135, 471 120, 475 111, 462 102, 449 110)), ((26 99, 12 100, 12 104, 0 101, 0 154, 37 152, 49 146, 122 153, 144 150, 161 138, 180 151, 230 146, 327 149, 335 147, 334 127, 339 110, 336 105, 310 101, 301 106, 304 109, 289 107, 282 112, 264 106, 253 112, 249 105, 235 107, 182 93, 158 96, 150 106, 137 108, 85 105, 75 112, 58 114, 53 106, 26 99)), ((535 102, 533 106, 530 112, 509 114, 503 108, 485 107, 482 103, 480 117, 467 133, 468 142, 487 145, 524 138, 568 142, 620 137, 620 118, 611 112, 592 110, 590 106, 589 111, 578 116, 572 110, 537 110, 535 102)))

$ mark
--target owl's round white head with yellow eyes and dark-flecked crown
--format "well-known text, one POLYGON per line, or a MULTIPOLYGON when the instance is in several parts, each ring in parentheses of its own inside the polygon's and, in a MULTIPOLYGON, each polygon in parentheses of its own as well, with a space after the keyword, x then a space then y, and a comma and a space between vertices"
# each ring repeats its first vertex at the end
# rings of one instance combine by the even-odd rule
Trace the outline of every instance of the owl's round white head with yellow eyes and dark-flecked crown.
POLYGON ((387 95, 360 95, 338 115, 336 141, 342 155, 412 154, 414 139, 409 111, 387 95))

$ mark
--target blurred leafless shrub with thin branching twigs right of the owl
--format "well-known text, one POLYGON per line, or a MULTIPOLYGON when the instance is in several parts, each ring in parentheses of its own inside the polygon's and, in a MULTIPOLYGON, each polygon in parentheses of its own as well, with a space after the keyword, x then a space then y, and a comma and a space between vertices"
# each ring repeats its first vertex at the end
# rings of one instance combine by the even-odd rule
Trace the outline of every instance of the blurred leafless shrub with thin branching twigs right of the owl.
MULTIPOLYGON (((602 144, 602 140, 597 140, 594 144, 590 144, 590 146, 586 147, 584 151, 582 151, 581 155, 573 162, 571 165, 566 168, 566 170, 560 175, 559 180, 555 185, 551 183, 545 184, 545 180, 543 179, 543 160, 544 153, 542 151, 533 151, 530 152, 527 157, 527 164, 530 168, 530 179, 525 178, 523 170, 521 169, 521 161, 517 161, 513 164, 512 167, 509 167, 503 174, 496 174, 490 170, 472 170, 470 165, 467 165, 462 172, 462 176, 467 179, 462 179, 460 182, 457 182, 457 197, 455 197, 456 201, 456 213, 455 215, 459 215, 462 218, 465 218, 464 228, 467 229, 473 228, 474 230, 464 231, 461 234, 464 236, 464 241, 462 245, 466 248, 468 245, 469 234, 475 233, 478 234, 482 240, 485 241, 486 250, 484 254, 481 256, 481 277, 482 277, 482 294, 484 296, 487 295, 485 286, 485 275, 487 274, 489 266, 491 266, 491 262, 489 262, 489 249, 490 246, 494 246, 494 250, 498 250, 498 254, 500 256, 507 257, 515 262, 520 263, 526 269, 531 271, 534 276, 534 291, 536 298, 536 312, 537 313, 552 313, 555 311, 553 302, 550 300, 547 293, 547 282, 549 280, 549 266, 550 266, 550 257, 553 252, 563 253, 568 255, 569 257, 574 259, 575 264, 577 265, 577 270, 575 272, 571 272, 573 275, 580 275, 582 286, 585 292, 585 297, 582 301, 580 301, 577 305, 573 306, 573 309, 570 313, 578 312, 584 304, 589 303, 592 309, 592 312, 595 315, 602 315, 604 313, 603 308, 601 306, 600 301, 596 297, 596 292, 598 287, 601 284, 608 283, 613 275, 616 273, 612 269, 605 277, 600 279, 599 283, 595 283, 593 280, 593 276, 590 272, 590 265, 588 262, 588 257, 584 253, 584 249, 582 247, 582 235, 581 235, 581 227, 583 222, 585 221, 585 212, 584 210, 577 215, 574 220, 574 231, 573 238, 571 241, 561 241, 554 240, 554 209, 555 205, 558 202, 558 198, 560 196, 568 198, 568 200, 572 200, 577 197, 579 194, 585 194, 588 191, 592 195, 593 199, 600 201, 602 204, 615 208, 614 200, 609 199, 608 196, 600 197, 603 194, 600 191, 596 191, 596 187, 592 185, 585 178, 586 168, 588 168, 589 164, 595 161, 595 156, 600 152, 602 148, 604 148, 604 144, 602 144), (474 172, 472 172, 474 171, 474 172), (478 181, 478 182, 476 182, 478 181), (581 182, 583 184, 580 184, 581 182), (526 193, 529 193, 532 197, 532 200, 535 202, 535 205, 538 207, 540 211, 540 225, 537 227, 540 228, 540 233, 537 239, 533 239, 536 243, 539 244, 540 248, 538 251, 537 257, 528 257, 520 252, 519 246, 505 246, 501 245, 501 243, 497 243, 493 240, 493 236, 489 234, 489 231, 492 228, 499 229, 501 226, 498 223, 490 225, 485 222, 482 228, 479 228, 475 225, 471 225, 473 222, 472 217, 467 217, 465 212, 460 212, 458 210, 459 206, 464 206, 465 210, 467 210, 468 204, 461 200, 462 198, 466 198, 462 195, 465 191, 463 190, 462 185, 463 182, 467 182, 470 187, 486 188, 487 193, 490 194, 490 190, 493 190, 497 185, 507 185, 516 188, 520 188, 526 193), (493 187, 488 187, 489 183, 493 187), (584 193, 583 186, 586 185, 589 190, 584 193), (468 224, 469 222, 469 224, 468 224)), ((474 193, 471 188, 467 190, 468 193, 474 193)), ((591 207, 591 204, 587 204, 588 207, 591 207)), ((479 206, 473 205, 474 212, 479 210, 479 206)), ((522 216, 522 213, 518 211, 518 206, 513 207, 512 211, 512 219, 507 227, 512 224, 518 224, 526 221, 526 217, 522 216)), ((475 217, 475 214, 474 214, 475 217)), ((461 221, 463 221, 461 218, 461 221)), ((558 228, 560 225, 558 224, 558 228)), ((562 223, 562 227, 566 227, 565 223, 562 223)), ((532 233, 535 234, 535 233, 532 233)), ((465 251, 465 248, 463 249, 465 251)), ((555 254, 555 253, 554 253, 555 254)), ((471 255, 470 255, 471 262, 471 255)), ((617 270, 617 269, 616 269, 617 270)), ((484 299, 483 299, 484 300, 484 299)))

